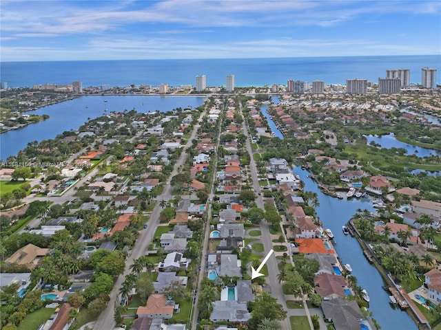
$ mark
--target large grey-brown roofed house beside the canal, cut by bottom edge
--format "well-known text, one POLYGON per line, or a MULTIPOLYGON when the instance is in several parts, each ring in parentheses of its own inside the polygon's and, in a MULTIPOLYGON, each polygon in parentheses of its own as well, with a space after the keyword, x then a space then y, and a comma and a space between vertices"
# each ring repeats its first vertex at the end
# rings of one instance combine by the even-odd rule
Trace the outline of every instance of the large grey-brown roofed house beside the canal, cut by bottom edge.
POLYGON ((345 300, 335 298, 322 302, 322 311, 327 322, 332 322, 335 329, 360 330, 360 323, 365 323, 366 329, 375 329, 367 327, 369 325, 365 315, 362 313, 356 300, 345 300))

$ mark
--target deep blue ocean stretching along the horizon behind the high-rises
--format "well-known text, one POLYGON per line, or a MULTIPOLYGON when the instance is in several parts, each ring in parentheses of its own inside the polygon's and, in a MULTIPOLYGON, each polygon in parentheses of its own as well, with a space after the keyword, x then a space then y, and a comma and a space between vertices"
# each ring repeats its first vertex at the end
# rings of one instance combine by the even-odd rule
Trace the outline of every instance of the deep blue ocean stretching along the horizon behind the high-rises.
POLYGON ((411 83, 421 83, 422 67, 438 70, 441 84, 441 55, 430 56, 345 56, 293 58, 229 58, 194 60, 138 61, 50 61, 2 62, 0 79, 9 87, 32 87, 82 81, 83 87, 109 85, 153 85, 177 87, 196 85, 196 76, 205 75, 208 87, 225 86, 234 74, 236 87, 286 85, 287 80, 324 80, 326 84, 345 84, 359 78, 378 82, 386 69, 410 69, 411 83))

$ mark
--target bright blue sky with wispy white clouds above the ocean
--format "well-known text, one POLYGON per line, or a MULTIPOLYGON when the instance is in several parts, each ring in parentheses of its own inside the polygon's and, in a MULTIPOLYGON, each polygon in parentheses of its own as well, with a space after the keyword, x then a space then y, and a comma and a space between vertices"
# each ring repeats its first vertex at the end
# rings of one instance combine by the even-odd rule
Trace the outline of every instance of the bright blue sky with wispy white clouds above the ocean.
POLYGON ((1 0, 1 61, 441 53, 441 1, 1 0))

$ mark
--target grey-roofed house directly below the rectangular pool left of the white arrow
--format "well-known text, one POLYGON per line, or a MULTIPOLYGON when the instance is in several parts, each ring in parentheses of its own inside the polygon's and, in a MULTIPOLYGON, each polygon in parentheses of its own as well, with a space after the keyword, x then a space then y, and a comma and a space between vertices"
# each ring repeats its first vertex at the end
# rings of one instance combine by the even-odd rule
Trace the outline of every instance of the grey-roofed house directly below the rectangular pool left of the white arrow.
POLYGON ((238 303, 236 300, 216 300, 209 319, 213 322, 247 322, 251 314, 246 303, 238 303))

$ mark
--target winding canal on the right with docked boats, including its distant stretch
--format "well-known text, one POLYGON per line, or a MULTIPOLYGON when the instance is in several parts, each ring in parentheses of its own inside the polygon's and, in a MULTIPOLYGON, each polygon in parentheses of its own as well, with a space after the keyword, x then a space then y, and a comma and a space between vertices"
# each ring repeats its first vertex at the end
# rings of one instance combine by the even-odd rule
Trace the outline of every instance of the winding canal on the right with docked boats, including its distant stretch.
MULTIPOLYGON (((278 101, 278 99, 273 98, 278 101)), ((267 114, 267 107, 260 107, 263 115, 267 118, 271 130, 276 130, 276 124, 267 114)), ((274 131, 276 133, 276 131, 274 131)), ((277 133, 276 133, 276 136, 277 133)), ((283 139, 283 135, 280 134, 283 139)), ((387 330, 413 330, 418 329, 411 316, 406 311, 393 307, 389 303, 389 292, 384 291, 382 286, 385 285, 380 273, 371 265, 363 255, 362 248, 358 241, 342 232, 342 225, 345 225, 349 219, 356 214, 357 210, 369 210, 374 212, 370 198, 363 199, 337 199, 329 195, 325 195, 318 188, 317 183, 307 177, 307 170, 300 167, 293 168, 296 175, 300 175, 300 179, 305 182, 304 190, 316 192, 320 206, 316 208, 317 216, 322 221, 325 228, 332 230, 336 252, 342 263, 349 263, 352 267, 352 274, 356 276, 358 285, 367 290, 369 293, 369 311, 372 311, 375 318, 382 329, 387 330)))

